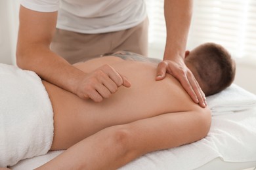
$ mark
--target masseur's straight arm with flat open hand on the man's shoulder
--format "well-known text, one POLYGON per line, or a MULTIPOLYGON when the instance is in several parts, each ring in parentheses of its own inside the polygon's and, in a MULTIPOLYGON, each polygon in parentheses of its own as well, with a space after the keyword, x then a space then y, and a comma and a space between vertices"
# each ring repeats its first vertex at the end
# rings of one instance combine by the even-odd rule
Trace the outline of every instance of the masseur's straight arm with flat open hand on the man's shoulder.
POLYGON ((163 61, 158 65, 156 80, 163 80, 166 73, 175 76, 193 101, 205 107, 207 103, 202 87, 200 88, 192 71, 184 63, 192 9, 192 0, 164 1, 167 37, 163 61))

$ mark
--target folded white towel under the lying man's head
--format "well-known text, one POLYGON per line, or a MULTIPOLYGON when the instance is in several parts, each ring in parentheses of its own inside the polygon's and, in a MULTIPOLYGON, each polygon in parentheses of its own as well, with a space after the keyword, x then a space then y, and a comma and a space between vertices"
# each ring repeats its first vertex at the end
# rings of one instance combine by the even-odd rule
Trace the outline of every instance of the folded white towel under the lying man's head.
POLYGON ((256 107, 256 95, 247 92, 236 84, 232 84, 222 92, 206 98, 212 116, 256 107))

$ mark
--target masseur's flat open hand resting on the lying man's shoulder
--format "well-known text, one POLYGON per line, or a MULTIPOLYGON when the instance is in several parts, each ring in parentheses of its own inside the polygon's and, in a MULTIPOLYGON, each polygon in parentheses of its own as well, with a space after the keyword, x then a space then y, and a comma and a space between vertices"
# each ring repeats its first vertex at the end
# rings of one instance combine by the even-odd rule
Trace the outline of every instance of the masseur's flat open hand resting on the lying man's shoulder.
POLYGON ((171 60, 163 60, 158 64, 156 80, 163 80, 166 73, 175 76, 181 82, 184 90, 190 95, 191 99, 201 107, 206 107, 205 94, 200 88, 193 73, 186 67, 184 61, 177 63, 171 60))

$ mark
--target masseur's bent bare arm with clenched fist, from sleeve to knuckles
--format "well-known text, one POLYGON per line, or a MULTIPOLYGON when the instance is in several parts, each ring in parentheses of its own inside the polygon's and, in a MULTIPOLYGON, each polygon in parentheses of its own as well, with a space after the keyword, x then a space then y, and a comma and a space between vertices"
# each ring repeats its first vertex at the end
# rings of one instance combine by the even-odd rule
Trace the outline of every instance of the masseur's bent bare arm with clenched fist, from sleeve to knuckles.
POLYGON ((106 88, 116 92, 119 86, 129 87, 131 84, 114 69, 104 67, 101 73, 87 74, 73 67, 49 48, 56 30, 57 12, 35 12, 20 7, 20 27, 17 44, 17 65, 22 69, 35 71, 44 80, 59 86, 81 99, 93 99, 99 102, 104 93, 97 91, 96 86, 102 85, 101 80, 114 86, 106 88), (116 88, 113 88, 116 87, 116 88))

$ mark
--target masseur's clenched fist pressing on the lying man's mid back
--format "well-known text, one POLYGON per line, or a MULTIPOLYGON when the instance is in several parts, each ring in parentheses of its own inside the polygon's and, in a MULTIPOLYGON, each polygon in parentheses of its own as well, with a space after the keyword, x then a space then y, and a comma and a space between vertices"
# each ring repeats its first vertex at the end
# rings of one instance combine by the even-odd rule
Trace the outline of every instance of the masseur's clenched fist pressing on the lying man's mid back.
POLYGON ((110 65, 102 65, 89 73, 77 86, 77 95, 82 99, 93 99, 100 102, 116 93, 120 86, 129 88, 131 82, 117 73, 110 65))

